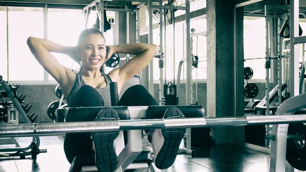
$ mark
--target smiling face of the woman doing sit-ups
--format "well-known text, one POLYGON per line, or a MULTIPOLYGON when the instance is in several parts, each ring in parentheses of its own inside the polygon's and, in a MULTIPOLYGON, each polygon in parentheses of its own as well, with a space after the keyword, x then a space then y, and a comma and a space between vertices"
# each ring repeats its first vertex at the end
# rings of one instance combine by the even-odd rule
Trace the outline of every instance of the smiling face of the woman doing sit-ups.
POLYGON ((106 56, 106 45, 104 38, 99 34, 90 34, 84 38, 79 47, 83 67, 88 70, 100 69, 106 56))

